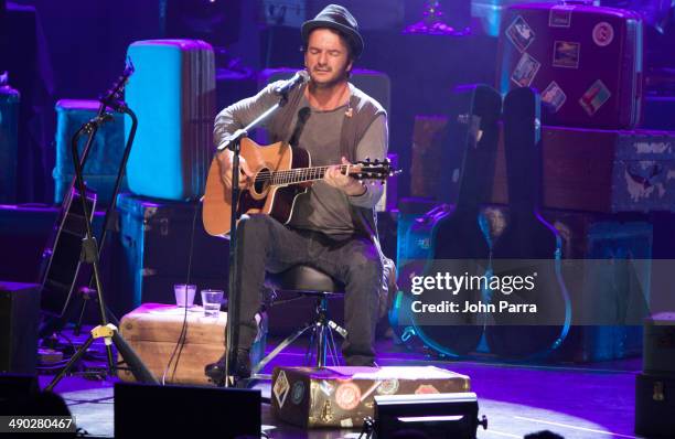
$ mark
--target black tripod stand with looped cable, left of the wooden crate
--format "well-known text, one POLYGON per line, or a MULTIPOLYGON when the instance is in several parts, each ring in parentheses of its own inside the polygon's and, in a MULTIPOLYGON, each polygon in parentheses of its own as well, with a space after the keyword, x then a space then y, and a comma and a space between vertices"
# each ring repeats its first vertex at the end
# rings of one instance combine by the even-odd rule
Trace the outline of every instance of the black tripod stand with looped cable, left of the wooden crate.
MULTIPOLYGON (((126 82, 126 78, 128 78, 128 76, 130 76, 132 72, 133 72, 132 67, 130 66, 127 67, 127 69, 125 71, 126 77, 124 77, 125 82, 126 82)), ((124 84, 121 85, 124 86, 124 84)), ((99 108, 98 115, 92 120, 89 120, 87 124, 82 126, 77 130, 77 132, 75 132, 75 135, 73 136, 71 148, 72 148, 72 153, 73 153, 73 164, 75 167, 75 181, 77 184, 77 190, 79 191, 81 194, 86 193, 86 186, 85 186, 84 176, 83 176, 83 169, 84 169, 83 164, 84 163, 81 161, 81 158, 79 158, 79 152, 77 150, 77 142, 79 140, 79 137, 83 133, 87 133, 89 136, 87 140, 87 144, 85 147, 85 151, 87 151, 88 146, 90 146, 94 137, 96 136, 96 131, 98 130, 98 127, 103 125, 106 120, 110 119, 110 114, 106 113, 106 107, 111 107, 118 111, 126 113, 127 115, 131 117, 131 121, 132 121, 132 128, 129 135, 129 139, 127 140, 127 146, 125 149, 122 163, 120 165, 120 171, 117 175, 117 181, 116 181, 115 192, 119 191, 119 184, 121 183, 121 176, 124 174, 125 164, 129 157, 131 143, 133 142, 133 137, 136 135, 136 129, 138 127, 138 119, 136 115, 133 114, 133 111, 131 111, 131 109, 129 109, 126 106, 126 104, 124 104, 124 101, 118 100, 118 97, 121 94, 121 88, 122 88, 121 86, 118 86, 108 96, 101 98, 100 99, 101 106, 99 108)), ((92 330, 90 335, 87 338, 86 342, 75 352, 75 354, 73 354, 73 356, 71 357, 68 363, 65 365, 65 367, 45 387, 45 390, 52 390, 54 386, 56 386, 56 384, 58 384, 58 382, 68 373, 68 371, 73 367, 73 365, 77 361, 79 361, 79 358, 85 354, 85 352, 92 345, 94 340, 100 339, 100 338, 104 339, 105 344, 106 344, 106 351, 107 351, 107 357, 108 357, 107 358, 108 360, 108 372, 116 371, 116 364, 113 358, 113 350, 110 347, 110 345, 114 344, 117 351, 119 352, 119 354, 121 355, 122 360, 125 361, 125 363, 129 365, 131 373, 133 374, 133 377, 136 378, 137 382, 158 384, 157 379, 154 378, 152 373, 148 370, 148 367, 143 364, 143 362, 139 358, 138 354, 127 343, 127 341, 119 334, 118 329, 114 324, 108 322, 106 304, 104 301, 103 285, 100 281, 99 259, 98 259, 99 248, 96 244, 96 238, 94 237, 94 234, 93 234, 90 213, 89 213, 89 207, 87 205, 86 197, 81 196, 81 201, 82 201, 82 210, 84 213, 84 224, 85 224, 85 231, 86 231, 86 235, 82 240, 82 256, 81 257, 84 263, 90 264, 93 267, 94 282, 96 285, 96 295, 97 295, 99 312, 100 312, 100 324, 92 330)), ((114 201, 113 201, 113 204, 115 204, 114 201)), ((111 208, 109 208, 109 211, 106 213, 106 221, 109 220, 108 215, 110 211, 111 208)), ((104 237, 105 237, 106 228, 107 228, 107 224, 104 227, 104 235, 103 235, 104 237)))

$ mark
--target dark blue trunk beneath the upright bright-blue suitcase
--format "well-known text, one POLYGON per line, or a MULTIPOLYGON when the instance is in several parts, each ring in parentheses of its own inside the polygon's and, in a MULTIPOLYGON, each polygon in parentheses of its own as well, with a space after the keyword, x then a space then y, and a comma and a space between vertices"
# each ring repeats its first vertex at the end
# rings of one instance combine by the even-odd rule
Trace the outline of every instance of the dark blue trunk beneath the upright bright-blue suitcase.
POLYGON ((206 234, 199 221, 199 202, 122 193, 117 211, 119 291, 130 298, 128 310, 144 302, 175 303, 175 283, 226 290, 229 242, 206 234))

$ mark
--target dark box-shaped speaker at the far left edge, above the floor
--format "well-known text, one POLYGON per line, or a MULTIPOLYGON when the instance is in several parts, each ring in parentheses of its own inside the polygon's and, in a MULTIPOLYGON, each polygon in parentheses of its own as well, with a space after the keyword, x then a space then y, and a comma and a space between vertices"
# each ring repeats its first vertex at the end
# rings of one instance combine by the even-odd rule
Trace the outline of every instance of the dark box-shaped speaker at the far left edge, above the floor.
POLYGON ((0 373, 35 373, 39 319, 39 285, 0 281, 0 373))

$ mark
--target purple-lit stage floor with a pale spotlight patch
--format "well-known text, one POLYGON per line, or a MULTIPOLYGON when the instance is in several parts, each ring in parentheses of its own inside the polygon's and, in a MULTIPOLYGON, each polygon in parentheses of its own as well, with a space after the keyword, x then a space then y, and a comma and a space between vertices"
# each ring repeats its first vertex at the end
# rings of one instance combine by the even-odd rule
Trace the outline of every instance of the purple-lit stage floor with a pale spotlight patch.
MULTIPOLYGON (((74 340, 77 343, 77 340, 74 340)), ((268 343, 268 350, 275 341, 268 343)), ((98 346, 100 349, 100 346, 98 346)), ((489 419, 483 438, 522 438, 525 433, 550 430, 571 438, 635 438, 634 383, 640 358, 593 364, 555 366, 514 365, 488 362, 438 361, 413 353, 389 340, 377 343, 378 364, 435 365, 471 377, 479 398, 480 415, 489 419)), ((303 349, 281 354, 275 364, 299 365, 303 349)), ((52 375, 41 375, 44 387, 52 375)), ((68 376, 56 386, 76 417, 77 426, 94 437, 114 437, 113 379, 92 381, 68 376)), ((258 385, 269 397, 269 383, 258 385)), ((303 430, 285 425, 264 405, 262 424, 271 426, 271 438, 356 438, 360 430, 303 430)))

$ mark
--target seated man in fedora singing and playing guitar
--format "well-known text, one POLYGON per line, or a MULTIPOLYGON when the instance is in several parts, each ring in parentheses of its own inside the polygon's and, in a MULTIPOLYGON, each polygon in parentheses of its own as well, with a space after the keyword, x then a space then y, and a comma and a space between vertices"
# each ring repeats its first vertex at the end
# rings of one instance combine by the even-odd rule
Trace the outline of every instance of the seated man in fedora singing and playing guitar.
MULTIPOLYGON (((347 82, 363 51, 363 39, 352 14, 330 4, 302 24, 308 84, 294 88, 288 103, 267 122, 274 141, 288 141, 309 152, 311 165, 349 164, 383 160, 387 152, 387 118, 383 107, 347 82)), ((214 140, 219 146, 279 97, 271 84, 216 117, 214 140)), ((232 153, 219 152, 223 183, 232 186, 232 153)), ((250 189, 255 175, 242 160, 240 188, 250 189)), ((255 314, 260 308, 265 271, 280 272, 308 265, 345 286, 344 315, 347 338, 342 345, 347 365, 374 366, 374 335, 383 264, 375 231, 374 206, 383 186, 364 185, 331 165, 322 180, 298 195, 287 224, 265 214, 244 216, 237 226, 237 288, 240 291, 236 378, 250 375, 249 349, 256 338, 255 314)), ((349 170, 349 168, 347 168, 349 170)), ((206 375, 222 381, 225 355, 206 366, 206 375)))

